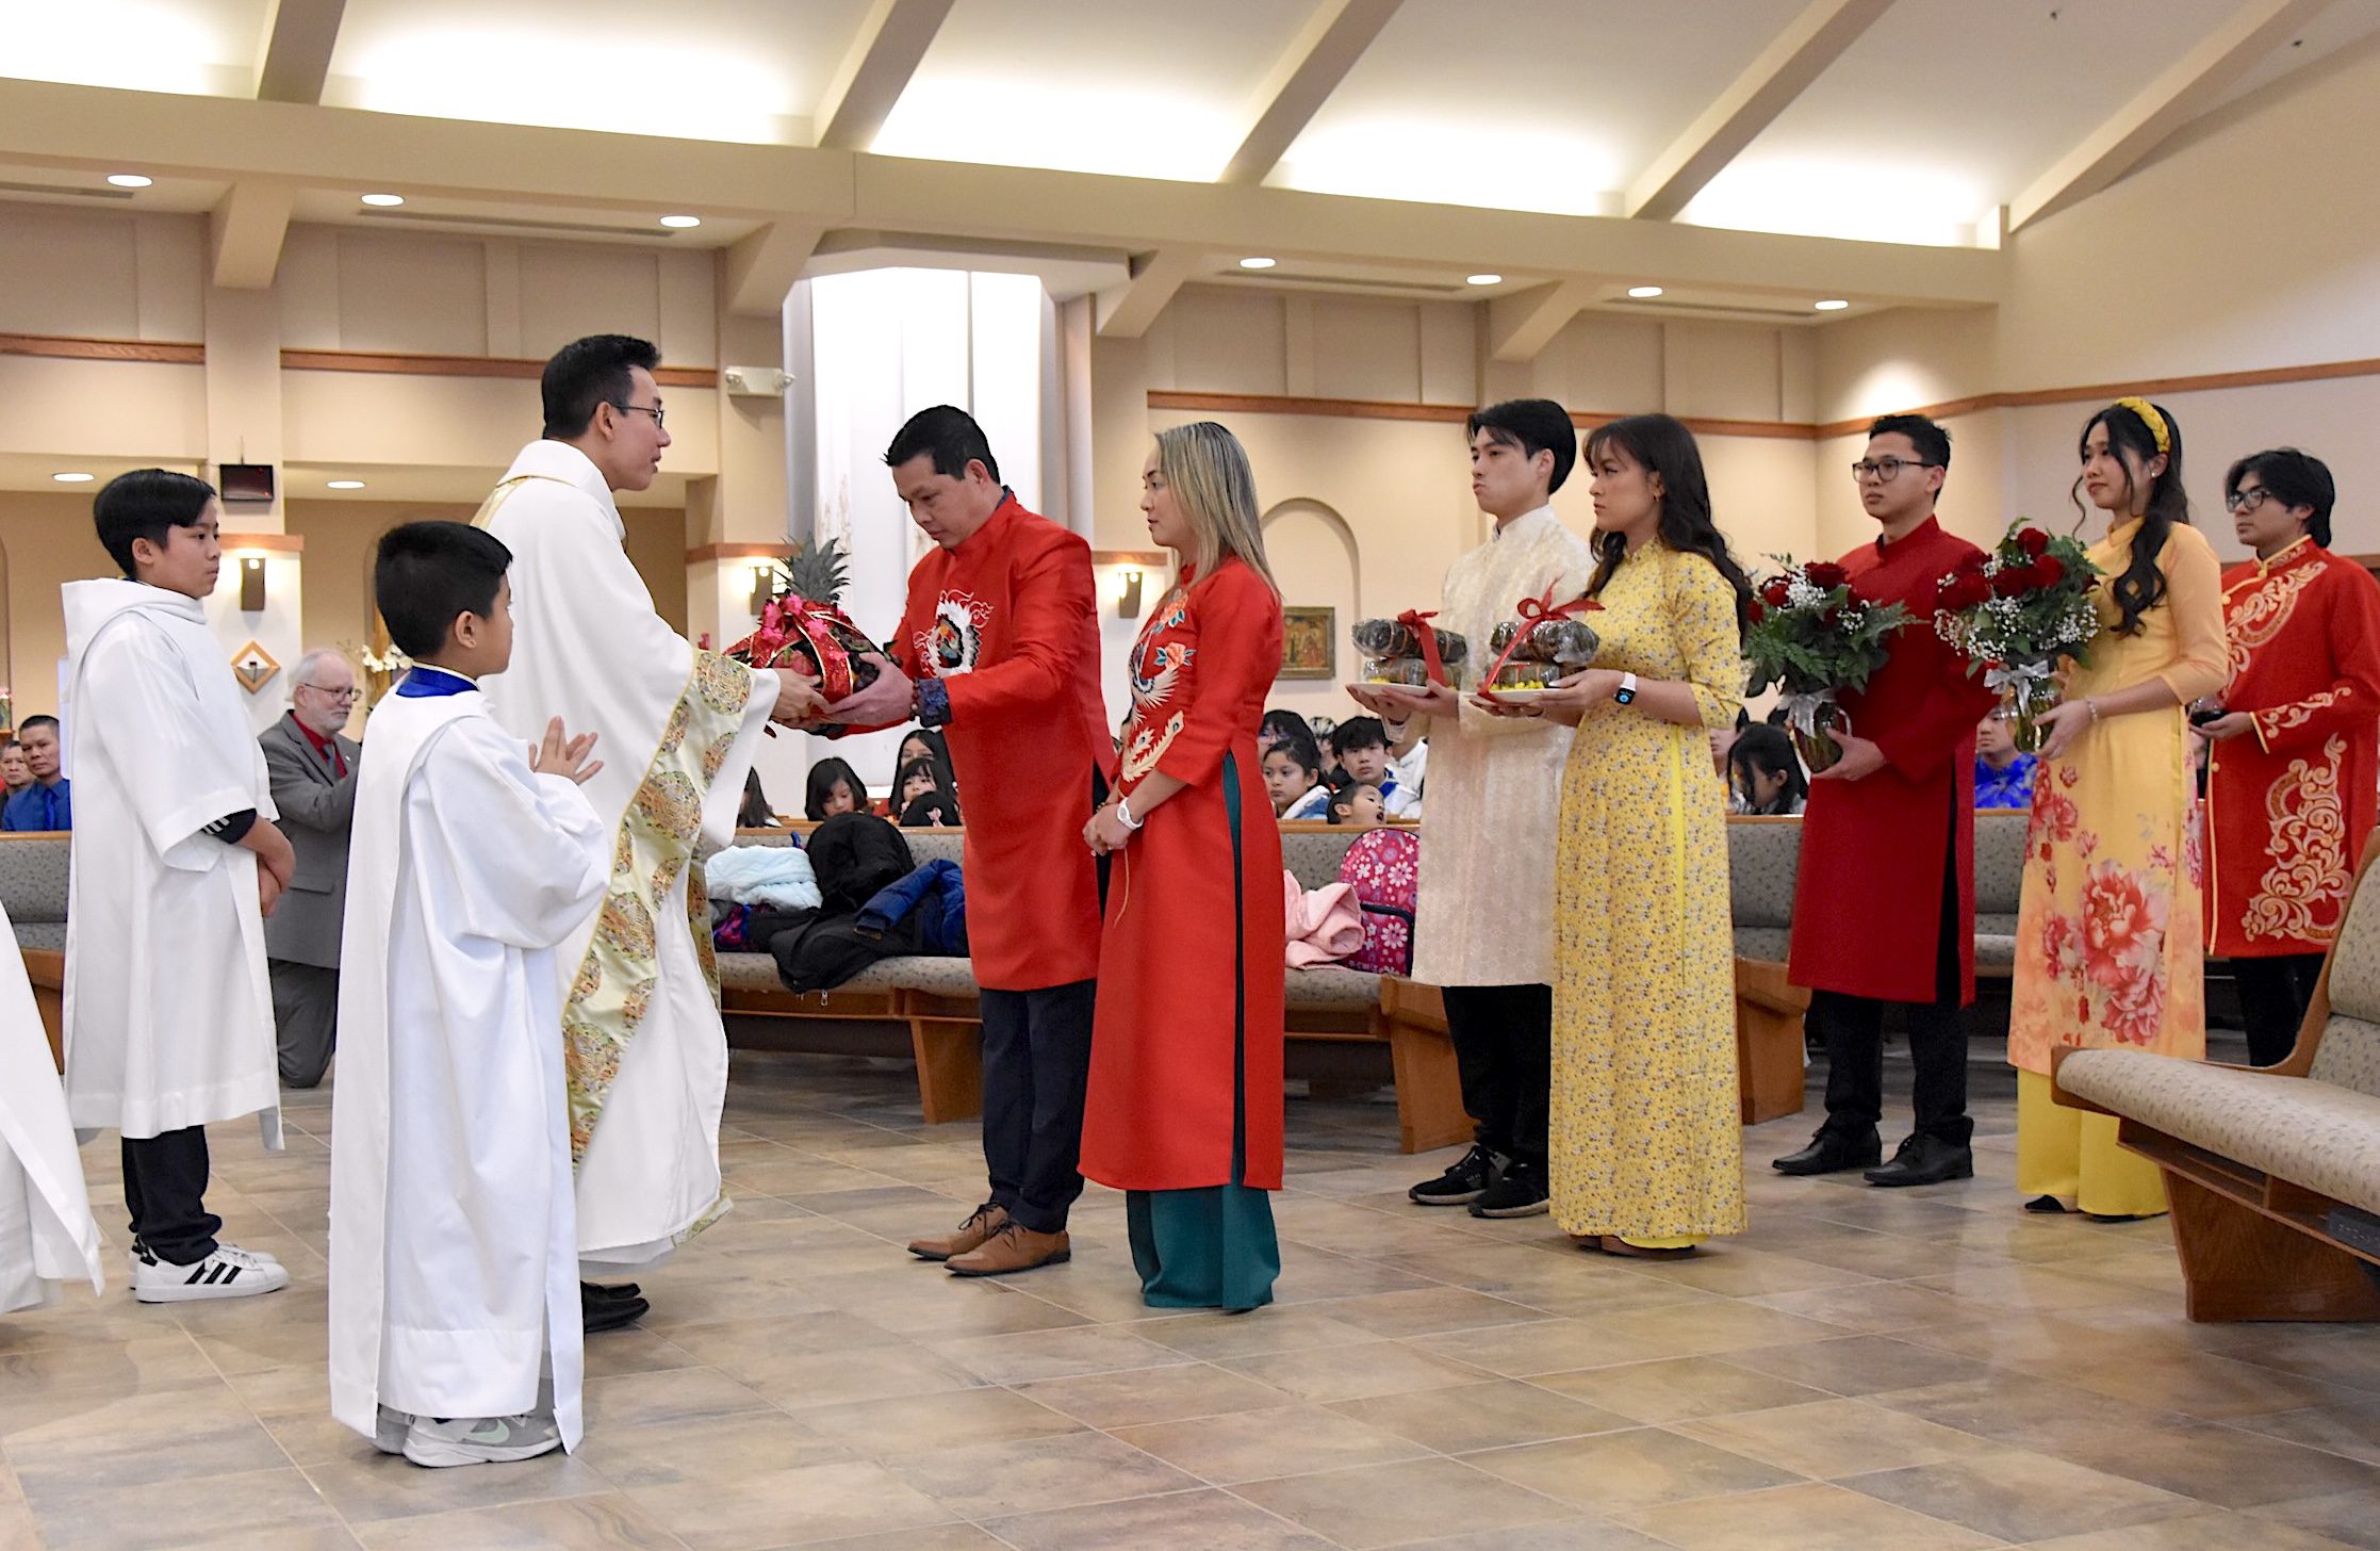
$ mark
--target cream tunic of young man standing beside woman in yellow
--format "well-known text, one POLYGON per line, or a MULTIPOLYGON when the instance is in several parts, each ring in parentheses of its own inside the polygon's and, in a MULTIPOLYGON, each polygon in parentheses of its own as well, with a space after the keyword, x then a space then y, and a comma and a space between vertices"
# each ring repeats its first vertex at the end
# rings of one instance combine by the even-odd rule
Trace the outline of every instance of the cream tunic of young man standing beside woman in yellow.
MULTIPOLYGON (((1488 634, 1521 598, 1587 591, 1595 553, 1554 507, 1514 517, 1447 569, 1430 624, 1471 646, 1461 686, 1488 674, 1488 634)), ((1592 617, 1590 617, 1592 624, 1592 617)), ((1449 672, 1449 677, 1454 677, 1449 672)), ((1430 822, 1414 896, 1414 979, 1428 986, 1535 986, 1554 982, 1554 829, 1571 729, 1533 717, 1430 722, 1430 822)))

